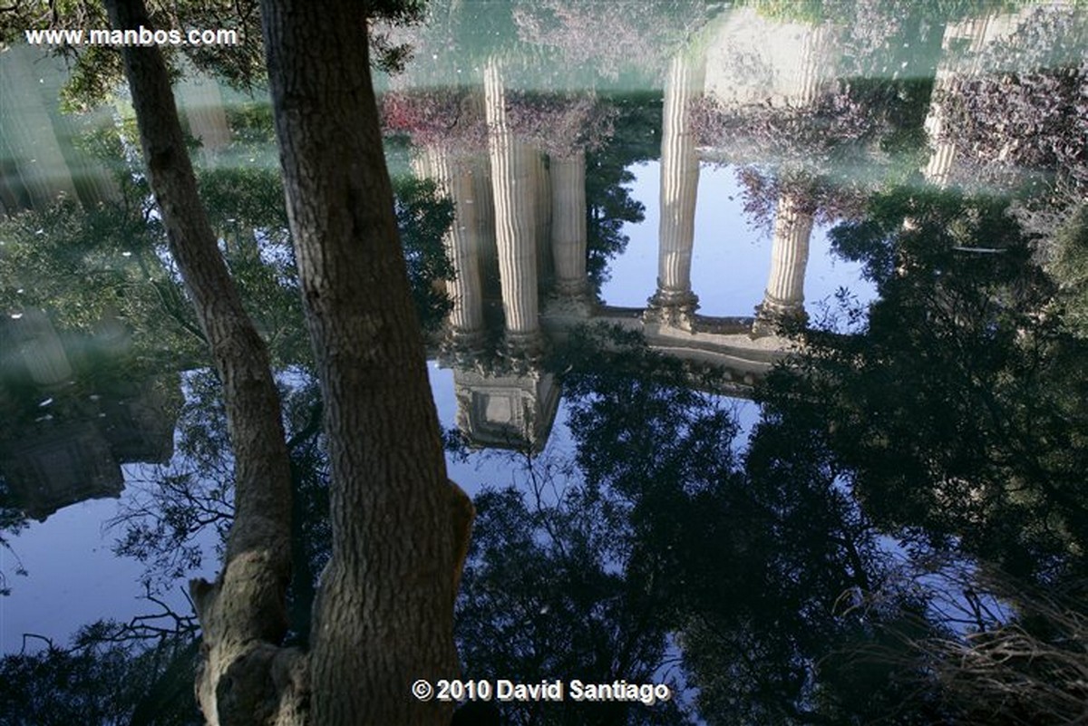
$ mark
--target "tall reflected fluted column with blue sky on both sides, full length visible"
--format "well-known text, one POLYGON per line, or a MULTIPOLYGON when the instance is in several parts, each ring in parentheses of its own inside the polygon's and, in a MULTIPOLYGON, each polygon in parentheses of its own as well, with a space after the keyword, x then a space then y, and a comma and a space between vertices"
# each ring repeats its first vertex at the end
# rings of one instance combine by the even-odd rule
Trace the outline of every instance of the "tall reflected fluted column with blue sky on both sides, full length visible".
POLYGON ((691 329, 698 300, 691 291, 698 158, 688 108, 702 92, 702 61, 678 55, 665 80, 662 126, 660 223, 657 292, 647 316, 691 329))

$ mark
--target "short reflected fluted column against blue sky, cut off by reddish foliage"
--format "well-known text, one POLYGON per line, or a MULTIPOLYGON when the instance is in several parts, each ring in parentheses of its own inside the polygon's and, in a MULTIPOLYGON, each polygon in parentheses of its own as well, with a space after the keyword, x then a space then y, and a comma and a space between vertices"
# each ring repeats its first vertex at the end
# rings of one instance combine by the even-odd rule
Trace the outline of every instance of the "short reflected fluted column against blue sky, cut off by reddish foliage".
POLYGON ((754 335, 768 335, 784 320, 805 318, 805 267, 813 215, 792 193, 778 199, 770 247, 770 274, 763 302, 756 306, 754 335))

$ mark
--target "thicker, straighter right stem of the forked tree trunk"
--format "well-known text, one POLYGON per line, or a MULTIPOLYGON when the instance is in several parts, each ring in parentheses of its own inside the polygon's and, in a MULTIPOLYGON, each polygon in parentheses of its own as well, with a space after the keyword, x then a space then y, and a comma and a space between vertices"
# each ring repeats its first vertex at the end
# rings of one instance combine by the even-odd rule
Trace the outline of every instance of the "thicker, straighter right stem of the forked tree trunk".
POLYGON ((411 685, 457 676, 450 573, 459 572, 471 504, 446 479, 382 150, 366 7, 262 2, 332 468, 311 719, 446 724, 449 705, 416 700, 411 685))

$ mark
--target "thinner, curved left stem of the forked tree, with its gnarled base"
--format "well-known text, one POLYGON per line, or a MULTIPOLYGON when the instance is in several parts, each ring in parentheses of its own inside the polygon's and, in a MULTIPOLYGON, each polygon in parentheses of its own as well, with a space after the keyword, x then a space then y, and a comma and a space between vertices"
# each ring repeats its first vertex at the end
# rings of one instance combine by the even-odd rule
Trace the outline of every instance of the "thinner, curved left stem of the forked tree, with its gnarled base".
MULTIPOLYGON (((151 27, 143 0, 109 0, 115 28, 151 27)), ((263 341, 220 255, 185 151, 162 54, 125 47, 140 143, 170 250, 223 386, 235 465, 235 518, 215 584, 195 580, 203 629, 197 693, 209 724, 301 723, 305 659, 279 643, 290 575, 290 476, 263 341)))

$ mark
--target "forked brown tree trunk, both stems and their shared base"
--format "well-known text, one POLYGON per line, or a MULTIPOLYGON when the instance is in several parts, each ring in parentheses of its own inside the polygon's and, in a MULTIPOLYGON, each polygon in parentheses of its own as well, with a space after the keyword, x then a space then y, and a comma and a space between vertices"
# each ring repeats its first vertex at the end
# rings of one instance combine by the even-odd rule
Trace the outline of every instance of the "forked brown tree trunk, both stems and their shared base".
MULTIPOLYGON (((151 25, 141 0, 108 5, 118 28, 151 25)), ((148 174, 222 379, 235 456, 224 569, 191 588, 203 628, 200 705, 215 726, 445 724, 449 706, 410 688, 457 674, 453 602, 472 509, 445 476, 363 11, 272 0, 264 23, 332 464, 332 558, 309 655, 279 646, 290 479, 268 353, 197 196, 162 55, 124 49, 148 174)))

